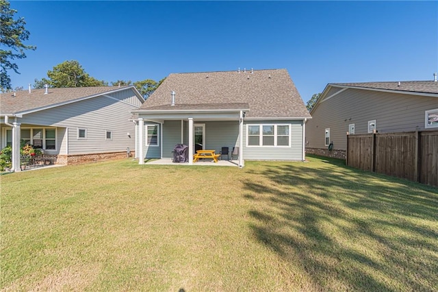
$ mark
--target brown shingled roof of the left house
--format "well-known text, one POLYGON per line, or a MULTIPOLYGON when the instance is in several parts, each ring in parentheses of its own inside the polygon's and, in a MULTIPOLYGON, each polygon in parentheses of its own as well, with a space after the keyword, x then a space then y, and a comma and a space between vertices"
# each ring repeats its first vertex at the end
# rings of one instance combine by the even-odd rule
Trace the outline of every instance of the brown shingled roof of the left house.
POLYGON ((81 99, 96 97, 104 93, 112 93, 116 90, 132 86, 99 86, 99 87, 75 87, 75 88, 49 88, 48 93, 44 89, 20 90, 15 93, 1 93, 1 114, 20 114, 22 112, 34 112, 43 108, 60 106, 81 99))

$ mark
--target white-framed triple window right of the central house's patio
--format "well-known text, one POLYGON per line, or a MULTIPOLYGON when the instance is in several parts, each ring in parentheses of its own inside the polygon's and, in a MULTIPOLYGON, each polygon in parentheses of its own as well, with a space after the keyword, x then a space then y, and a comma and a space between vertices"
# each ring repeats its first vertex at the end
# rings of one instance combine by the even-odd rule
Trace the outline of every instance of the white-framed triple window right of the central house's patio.
POLYGON ((248 147, 289 147, 289 125, 247 125, 246 144, 248 147))

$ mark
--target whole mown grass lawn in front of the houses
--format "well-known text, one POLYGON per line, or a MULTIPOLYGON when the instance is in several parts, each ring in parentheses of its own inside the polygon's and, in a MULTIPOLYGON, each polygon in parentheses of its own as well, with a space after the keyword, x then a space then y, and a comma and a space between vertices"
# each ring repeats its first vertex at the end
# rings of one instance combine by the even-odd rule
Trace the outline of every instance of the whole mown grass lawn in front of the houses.
POLYGON ((1 175, 5 291, 433 291, 438 189, 339 160, 1 175))

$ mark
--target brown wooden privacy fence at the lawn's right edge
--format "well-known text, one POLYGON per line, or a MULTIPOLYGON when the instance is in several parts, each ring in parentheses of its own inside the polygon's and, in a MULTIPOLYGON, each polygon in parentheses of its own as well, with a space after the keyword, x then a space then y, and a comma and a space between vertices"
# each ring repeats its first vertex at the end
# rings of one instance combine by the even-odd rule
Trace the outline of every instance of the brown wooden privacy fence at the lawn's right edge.
POLYGON ((350 167, 438 186, 438 131, 347 135, 350 167))

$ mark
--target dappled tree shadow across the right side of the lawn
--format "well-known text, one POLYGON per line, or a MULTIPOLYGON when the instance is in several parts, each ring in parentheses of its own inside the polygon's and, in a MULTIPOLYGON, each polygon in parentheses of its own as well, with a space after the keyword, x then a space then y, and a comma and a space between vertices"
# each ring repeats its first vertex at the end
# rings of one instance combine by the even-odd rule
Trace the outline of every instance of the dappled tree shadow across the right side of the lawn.
POLYGON ((266 163, 246 181, 255 238, 323 291, 433 291, 437 188, 313 157, 266 163), (322 163, 326 162, 326 163, 322 163))

